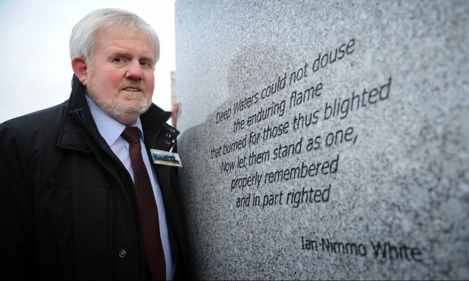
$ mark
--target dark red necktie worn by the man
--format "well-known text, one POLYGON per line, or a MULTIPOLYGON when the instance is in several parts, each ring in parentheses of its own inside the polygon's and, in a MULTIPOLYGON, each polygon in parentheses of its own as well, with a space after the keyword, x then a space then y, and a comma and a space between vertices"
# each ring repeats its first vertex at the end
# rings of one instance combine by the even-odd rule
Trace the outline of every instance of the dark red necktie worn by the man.
POLYGON ((166 280, 166 263, 160 237, 158 208, 147 168, 143 163, 140 133, 137 127, 126 127, 122 138, 130 143, 130 161, 134 170, 135 188, 142 216, 143 243, 154 280, 166 280))

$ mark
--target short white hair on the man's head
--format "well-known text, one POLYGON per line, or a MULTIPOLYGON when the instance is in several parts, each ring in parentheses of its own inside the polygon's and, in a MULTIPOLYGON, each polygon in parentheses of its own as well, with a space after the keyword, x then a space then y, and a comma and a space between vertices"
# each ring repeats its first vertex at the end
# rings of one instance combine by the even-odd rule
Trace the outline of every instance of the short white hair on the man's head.
POLYGON ((70 59, 81 57, 86 63, 93 61, 96 48, 96 34, 99 30, 112 27, 116 31, 125 31, 129 35, 141 30, 155 52, 155 65, 160 57, 160 40, 155 29, 138 15, 115 8, 97 9, 85 15, 73 27, 70 35, 70 59))

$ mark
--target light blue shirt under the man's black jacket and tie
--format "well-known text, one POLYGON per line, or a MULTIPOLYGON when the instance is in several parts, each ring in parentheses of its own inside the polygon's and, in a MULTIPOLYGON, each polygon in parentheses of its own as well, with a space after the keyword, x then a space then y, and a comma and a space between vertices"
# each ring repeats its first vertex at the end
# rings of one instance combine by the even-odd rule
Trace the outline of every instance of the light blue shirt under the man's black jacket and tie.
MULTIPOLYGON (((112 151, 121 160, 124 167, 129 171, 130 176, 135 184, 134 171, 130 162, 129 154, 129 142, 121 137, 124 132, 125 125, 112 118, 109 114, 98 107, 88 96, 86 101, 91 110, 96 127, 98 127, 99 134, 106 140, 107 144, 111 147, 112 151)), ((174 277, 174 260, 171 254, 171 248, 168 238, 168 226, 166 224, 165 207, 163 205, 163 198, 161 197, 160 186, 156 173, 152 168, 148 153, 145 150, 145 144, 143 143, 143 129, 140 117, 137 118, 134 124, 131 126, 137 127, 140 131, 140 146, 142 147, 142 158, 145 166, 147 167, 148 175, 150 176, 150 182, 153 187, 153 195, 155 196, 156 206, 158 207, 158 219, 160 222, 160 236, 161 243, 163 244, 163 251, 165 253, 166 260, 166 280, 173 280, 174 277)))

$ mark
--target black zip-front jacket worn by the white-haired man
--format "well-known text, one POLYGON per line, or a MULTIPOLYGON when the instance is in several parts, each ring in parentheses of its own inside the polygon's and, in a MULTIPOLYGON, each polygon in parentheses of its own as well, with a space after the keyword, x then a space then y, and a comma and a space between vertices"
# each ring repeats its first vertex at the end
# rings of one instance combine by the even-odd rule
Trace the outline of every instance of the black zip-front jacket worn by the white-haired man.
MULTIPOLYGON (((179 132, 166 124, 170 117, 155 105, 141 115, 147 150, 174 145, 179 132)), ((98 133, 75 76, 68 101, 0 124, 0 145, 2 278, 150 278, 132 179, 98 133)), ((185 279, 177 168, 154 168, 175 279, 185 279)))

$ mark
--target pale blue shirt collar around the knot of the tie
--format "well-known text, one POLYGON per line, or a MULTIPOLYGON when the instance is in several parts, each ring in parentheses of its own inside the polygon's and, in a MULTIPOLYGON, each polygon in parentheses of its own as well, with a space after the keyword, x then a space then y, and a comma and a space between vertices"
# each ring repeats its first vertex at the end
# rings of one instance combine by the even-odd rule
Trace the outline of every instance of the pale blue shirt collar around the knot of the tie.
MULTIPOLYGON (((96 127, 98 128, 99 134, 101 134, 109 146, 112 146, 121 136, 122 132, 124 132, 124 129, 127 126, 112 118, 109 114, 97 106, 88 97, 88 95, 85 97, 86 102, 90 108, 91 115, 93 116, 94 122, 96 123, 96 127)), ((140 139, 143 140, 142 122, 140 121, 140 117, 138 117, 135 123, 130 126, 137 127, 139 129, 140 139)))

